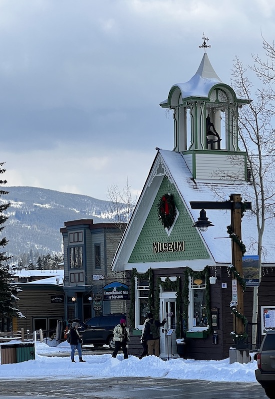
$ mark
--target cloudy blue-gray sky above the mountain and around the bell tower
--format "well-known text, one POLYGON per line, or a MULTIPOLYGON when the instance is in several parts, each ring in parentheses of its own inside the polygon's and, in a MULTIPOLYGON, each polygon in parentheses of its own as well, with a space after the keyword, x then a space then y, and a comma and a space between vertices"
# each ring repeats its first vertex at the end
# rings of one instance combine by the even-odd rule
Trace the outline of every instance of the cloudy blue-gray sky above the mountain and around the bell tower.
POLYGON ((275 39, 270 0, 0 0, 0 162, 8 186, 105 200, 142 190, 156 154, 172 150, 159 106, 203 56, 230 84, 275 39))

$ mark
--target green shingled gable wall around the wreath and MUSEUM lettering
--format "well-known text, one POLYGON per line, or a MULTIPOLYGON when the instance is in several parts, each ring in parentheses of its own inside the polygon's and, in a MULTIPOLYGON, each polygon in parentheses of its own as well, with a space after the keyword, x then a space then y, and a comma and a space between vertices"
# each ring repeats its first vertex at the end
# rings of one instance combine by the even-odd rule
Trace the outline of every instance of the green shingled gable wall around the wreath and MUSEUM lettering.
POLYGON ((209 253, 182 202, 177 190, 165 177, 141 230, 128 263, 160 262, 174 260, 209 259, 209 253), (173 194, 179 211, 178 219, 168 237, 158 218, 157 204, 164 194, 173 194), (184 241, 184 251, 153 253, 153 242, 184 241))

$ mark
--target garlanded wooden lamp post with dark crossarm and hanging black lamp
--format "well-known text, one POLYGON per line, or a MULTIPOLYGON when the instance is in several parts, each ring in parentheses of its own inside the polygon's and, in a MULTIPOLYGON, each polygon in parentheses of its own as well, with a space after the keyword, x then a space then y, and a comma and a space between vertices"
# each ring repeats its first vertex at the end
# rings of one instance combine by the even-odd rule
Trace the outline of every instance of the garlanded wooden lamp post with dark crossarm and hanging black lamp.
MULTIPOLYGON (((200 212, 200 217, 197 222, 194 223, 194 227, 200 228, 202 231, 205 227, 213 226, 213 224, 206 217, 204 209, 230 209, 231 210, 231 227, 235 234, 235 237, 242 241, 242 205, 244 209, 251 209, 251 202, 242 202, 240 194, 232 194, 229 201, 215 202, 215 201, 199 201, 190 202, 192 209, 202 209, 204 212, 200 212)), ((243 252, 241 246, 237 240, 232 238, 232 263, 235 266, 236 271, 243 277, 243 252)), ((244 314, 244 292, 243 287, 237 280, 237 311, 240 314, 244 314)), ((234 317, 233 329, 236 335, 242 335, 244 333, 244 324, 240 318, 234 317)))

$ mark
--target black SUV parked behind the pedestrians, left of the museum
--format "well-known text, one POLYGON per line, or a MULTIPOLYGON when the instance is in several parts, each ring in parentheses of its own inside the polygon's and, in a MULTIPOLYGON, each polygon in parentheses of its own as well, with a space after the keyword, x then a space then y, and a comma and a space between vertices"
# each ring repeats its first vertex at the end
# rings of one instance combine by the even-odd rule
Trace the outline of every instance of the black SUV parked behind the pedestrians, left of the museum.
POLYGON ((107 344, 111 349, 115 349, 113 331, 115 326, 120 323, 120 319, 126 320, 126 315, 113 313, 92 317, 86 321, 79 330, 83 344, 93 344, 95 346, 107 344))

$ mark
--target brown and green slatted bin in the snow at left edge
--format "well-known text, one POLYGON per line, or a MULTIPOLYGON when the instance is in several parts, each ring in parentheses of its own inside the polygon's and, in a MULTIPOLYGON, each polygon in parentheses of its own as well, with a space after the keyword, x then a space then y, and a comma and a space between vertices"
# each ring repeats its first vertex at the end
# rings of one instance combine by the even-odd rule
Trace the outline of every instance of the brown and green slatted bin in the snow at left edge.
POLYGON ((35 359, 34 344, 30 343, 1 345, 0 353, 1 365, 35 359))

